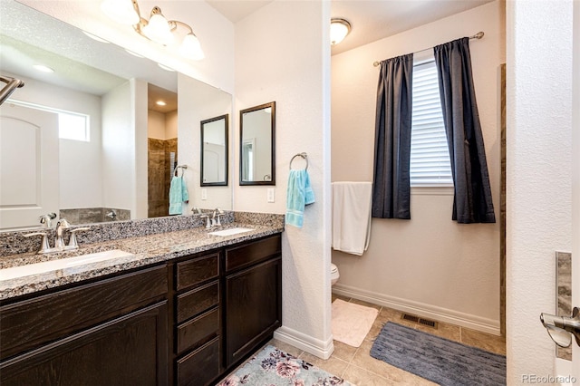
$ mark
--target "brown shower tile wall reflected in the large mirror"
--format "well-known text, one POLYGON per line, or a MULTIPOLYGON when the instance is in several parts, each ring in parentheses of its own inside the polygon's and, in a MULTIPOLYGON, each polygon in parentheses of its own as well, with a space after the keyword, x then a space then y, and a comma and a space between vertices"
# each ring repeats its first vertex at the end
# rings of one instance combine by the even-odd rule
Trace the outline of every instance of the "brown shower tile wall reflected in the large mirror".
POLYGON ((169 214, 169 185, 171 182, 171 152, 177 159, 178 139, 156 140, 149 139, 148 153, 148 217, 168 216, 169 214))

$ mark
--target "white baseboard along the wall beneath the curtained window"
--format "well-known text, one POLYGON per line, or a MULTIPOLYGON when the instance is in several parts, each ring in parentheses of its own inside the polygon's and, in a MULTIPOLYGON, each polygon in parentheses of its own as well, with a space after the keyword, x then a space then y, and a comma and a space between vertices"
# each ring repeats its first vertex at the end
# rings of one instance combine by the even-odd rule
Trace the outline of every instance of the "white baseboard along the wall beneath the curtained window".
POLYGON ((398 311, 415 314, 424 318, 434 319, 438 322, 451 323, 461 327, 467 327, 482 333, 501 335, 499 321, 482 318, 473 314, 465 314, 457 311, 437 307, 430 304, 422 304, 408 299, 401 299, 386 294, 373 293, 350 285, 333 285, 333 294, 340 294, 372 304, 379 304, 398 311))

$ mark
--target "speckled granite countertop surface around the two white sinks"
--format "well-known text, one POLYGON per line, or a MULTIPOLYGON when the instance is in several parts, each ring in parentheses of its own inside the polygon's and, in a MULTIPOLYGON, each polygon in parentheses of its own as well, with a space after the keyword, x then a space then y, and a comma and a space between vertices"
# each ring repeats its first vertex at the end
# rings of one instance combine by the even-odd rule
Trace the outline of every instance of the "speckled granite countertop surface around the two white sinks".
POLYGON ((173 232, 134 236, 94 244, 81 245, 79 249, 55 254, 37 255, 24 253, 0 257, 0 269, 19 265, 29 265, 66 257, 92 254, 95 252, 121 249, 131 256, 104 260, 98 263, 76 265, 68 268, 27 275, 3 280, 0 275, 0 300, 10 299, 23 294, 33 294, 48 288, 58 287, 82 280, 110 275, 131 268, 169 261, 176 257, 187 256, 210 249, 229 246, 243 241, 281 233, 284 227, 275 225, 256 225, 249 223, 230 223, 225 227, 195 227, 173 232), (232 236, 214 236, 214 232, 232 227, 247 227, 253 230, 232 236))

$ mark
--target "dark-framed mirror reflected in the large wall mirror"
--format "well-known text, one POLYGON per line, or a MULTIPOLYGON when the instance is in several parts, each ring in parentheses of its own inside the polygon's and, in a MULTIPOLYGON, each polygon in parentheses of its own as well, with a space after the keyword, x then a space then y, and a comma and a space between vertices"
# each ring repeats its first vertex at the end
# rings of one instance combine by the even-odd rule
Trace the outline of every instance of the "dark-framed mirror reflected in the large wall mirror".
POLYGON ((202 187, 227 186, 229 115, 201 121, 202 187))

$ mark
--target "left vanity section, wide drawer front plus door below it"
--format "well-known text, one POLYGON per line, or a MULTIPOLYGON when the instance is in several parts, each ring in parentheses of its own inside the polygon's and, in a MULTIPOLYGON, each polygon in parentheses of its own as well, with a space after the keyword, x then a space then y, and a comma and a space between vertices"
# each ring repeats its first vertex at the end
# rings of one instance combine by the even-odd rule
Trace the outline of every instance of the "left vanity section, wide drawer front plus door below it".
POLYGON ((0 307, 2 385, 168 383, 167 267, 0 307))

